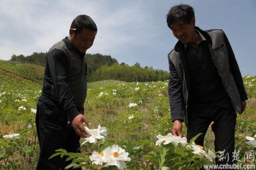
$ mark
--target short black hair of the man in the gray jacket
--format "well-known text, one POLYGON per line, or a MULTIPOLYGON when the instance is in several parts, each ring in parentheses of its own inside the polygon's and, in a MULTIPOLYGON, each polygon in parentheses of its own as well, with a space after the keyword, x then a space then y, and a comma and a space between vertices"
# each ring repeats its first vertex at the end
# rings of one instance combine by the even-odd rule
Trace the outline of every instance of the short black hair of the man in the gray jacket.
POLYGON ((192 18, 195 17, 194 8, 187 4, 180 4, 172 6, 166 15, 167 25, 170 26, 179 19, 182 19, 184 22, 191 24, 192 18))

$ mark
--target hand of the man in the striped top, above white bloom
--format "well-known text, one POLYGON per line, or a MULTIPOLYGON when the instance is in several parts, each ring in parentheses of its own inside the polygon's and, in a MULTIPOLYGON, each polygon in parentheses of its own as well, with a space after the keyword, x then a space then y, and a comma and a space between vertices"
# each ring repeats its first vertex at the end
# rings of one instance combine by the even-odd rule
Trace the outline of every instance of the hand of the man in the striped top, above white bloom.
POLYGON ((78 136, 81 138, 87 138, 87 135, 89 133, 85 130, 83 123, 86 123, 88 126, 92 125, 89 120, 87 120, 82 114, 78 114, 76 117, 74 117, 72 121, 72 126, 74 128, 74 131, 78 136))

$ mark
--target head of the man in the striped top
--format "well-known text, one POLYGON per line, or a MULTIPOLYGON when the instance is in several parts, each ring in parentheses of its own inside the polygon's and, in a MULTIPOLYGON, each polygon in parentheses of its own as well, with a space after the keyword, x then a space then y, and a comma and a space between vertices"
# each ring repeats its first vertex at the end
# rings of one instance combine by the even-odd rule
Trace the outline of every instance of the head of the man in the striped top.
POLYGON ((69 29, 69 40, 80 52, 86 52, 94 43, 97 26, 87 15, 77 16, 69 29))

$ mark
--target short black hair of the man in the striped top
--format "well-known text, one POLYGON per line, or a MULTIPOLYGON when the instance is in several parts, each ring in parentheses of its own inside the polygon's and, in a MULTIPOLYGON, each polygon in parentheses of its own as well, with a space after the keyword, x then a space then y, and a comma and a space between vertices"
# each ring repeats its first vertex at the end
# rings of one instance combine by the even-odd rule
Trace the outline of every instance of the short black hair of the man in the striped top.
POLYGON ((75 17, 70 26, 70 29, 74 30, 74 34, 80 33, 81 31, 83 31, 83 29, 88 29, 95 32, 97 32, 98 30, 93 19, 91 19, 91 17, 89 17, 88 15, 78 15, 77 17, 75 17))

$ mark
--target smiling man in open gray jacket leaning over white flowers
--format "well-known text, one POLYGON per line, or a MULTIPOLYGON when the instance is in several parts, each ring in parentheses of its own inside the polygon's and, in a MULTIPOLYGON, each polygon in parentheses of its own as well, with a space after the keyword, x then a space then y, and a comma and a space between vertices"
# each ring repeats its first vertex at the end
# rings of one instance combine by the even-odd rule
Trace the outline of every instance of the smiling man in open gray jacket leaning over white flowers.
POLYGON ((167 24, 179 41, 168 54, 168 93, 172 134, 182 137, 182 122, 187 126, 188 141, 203 146, 211 122, 215 133, 215 150, 225 151, 233 164, 236 113, 246 107, 247 94, 229 40, 222 30, 203 31, 195 26, 194 10, 189 5, 173 6, 167 24))

